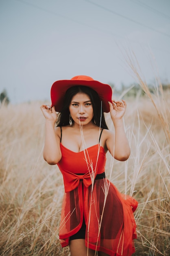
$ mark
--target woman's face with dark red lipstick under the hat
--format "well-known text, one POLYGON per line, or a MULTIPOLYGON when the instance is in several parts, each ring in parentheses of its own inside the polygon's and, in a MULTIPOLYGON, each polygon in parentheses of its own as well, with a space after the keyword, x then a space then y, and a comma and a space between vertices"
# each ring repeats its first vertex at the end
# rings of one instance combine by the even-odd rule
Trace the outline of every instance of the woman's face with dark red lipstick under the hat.
POLYGON ((89 96, 83 92, 78 92, 72 97, 70 106, 70 115, 75 124, 89 124, 94 116, 92 101, 89 96))

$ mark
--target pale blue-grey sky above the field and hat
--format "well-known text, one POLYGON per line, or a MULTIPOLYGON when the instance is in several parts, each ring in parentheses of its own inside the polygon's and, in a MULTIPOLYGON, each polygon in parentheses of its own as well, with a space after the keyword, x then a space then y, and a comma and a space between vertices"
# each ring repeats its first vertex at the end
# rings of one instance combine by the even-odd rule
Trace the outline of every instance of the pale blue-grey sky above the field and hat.
POLYGON ((148 83, 170 82, 170 0, 0 0, 0 92, 50 99, 76 75, 129 86, 134 52, 148 83))

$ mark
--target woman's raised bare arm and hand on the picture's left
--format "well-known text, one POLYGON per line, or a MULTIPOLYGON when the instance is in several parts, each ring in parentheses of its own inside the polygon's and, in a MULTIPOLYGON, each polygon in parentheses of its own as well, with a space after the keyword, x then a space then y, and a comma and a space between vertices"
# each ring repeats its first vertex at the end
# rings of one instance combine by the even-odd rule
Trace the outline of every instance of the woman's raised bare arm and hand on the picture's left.
POLYGON ((55 112, 54 107, 48 108, 48 106, 42 105, 40 108, 46 118, 43 156, 48 164, 57 164, 61 159, 60 129, 58 127, 54 129, 54 124, 57 121, 57 113, 55 112))

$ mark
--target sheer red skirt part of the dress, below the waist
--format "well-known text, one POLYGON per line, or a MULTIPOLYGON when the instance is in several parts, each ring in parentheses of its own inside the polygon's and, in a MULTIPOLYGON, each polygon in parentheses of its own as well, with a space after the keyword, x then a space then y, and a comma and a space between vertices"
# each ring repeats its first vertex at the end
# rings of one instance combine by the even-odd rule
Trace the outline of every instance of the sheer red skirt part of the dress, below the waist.
POLYGON ((107 179, 95 180, 94 186, 83 186, 65 193, 59 237, 62 247, 80 230, 85 218, 85 244, 88 248, 114 256, 135 252, 136 224, 133 211, 137 201, 121 194, 107 179))

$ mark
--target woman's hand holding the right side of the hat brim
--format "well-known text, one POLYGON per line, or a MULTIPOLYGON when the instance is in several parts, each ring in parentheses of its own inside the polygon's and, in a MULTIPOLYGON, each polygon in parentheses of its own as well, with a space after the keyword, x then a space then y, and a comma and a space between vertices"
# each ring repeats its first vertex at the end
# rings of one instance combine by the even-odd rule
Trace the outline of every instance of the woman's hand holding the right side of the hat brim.
POLYGON ((126 110, 126 101, 113 100, 112 103, 109 102, 110 115, 112 120, 121 119, 124 116, 126 110))

